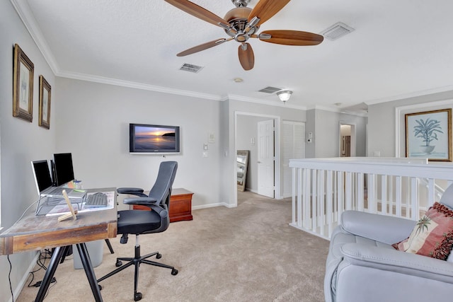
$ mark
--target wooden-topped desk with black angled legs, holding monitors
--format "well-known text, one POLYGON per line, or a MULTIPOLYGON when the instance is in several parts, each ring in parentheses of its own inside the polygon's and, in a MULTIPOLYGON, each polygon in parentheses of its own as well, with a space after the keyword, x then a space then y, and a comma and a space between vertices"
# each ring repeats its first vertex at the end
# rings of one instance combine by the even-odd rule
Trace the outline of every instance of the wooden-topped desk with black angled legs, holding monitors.
POLYGON ((88 250, 85 243, 92 240, 115 238, 117 235, 116 189, 113 187, 91 189, 88 192, 114 191, 114 208, 105 211, 91 211, 77 214, 77 220, 58 222, 58 216, 35 216, 30 214, 0 234, 0 255, 28 250, 55 248, 50 259, 50 265, 42 279, 40 290, 35 301, 42 301, 49 288, 55 270, 66 254, 69 245, 75 244, 81 262, 84 265, 86 277, 96 301, 103 301, 96 281, 88 250))

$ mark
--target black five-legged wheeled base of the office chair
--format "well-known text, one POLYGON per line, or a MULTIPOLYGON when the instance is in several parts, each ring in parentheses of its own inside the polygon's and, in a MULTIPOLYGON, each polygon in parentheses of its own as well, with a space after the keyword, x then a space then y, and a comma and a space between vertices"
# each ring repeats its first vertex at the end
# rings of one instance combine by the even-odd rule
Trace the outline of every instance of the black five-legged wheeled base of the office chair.
POLYGON ((139 300, 142 299, 142 293, 139 293, 137 291, 137 286, 138 286, 138 282, 139 282, 139 266, 142 263, 145 263, 147 265, 154 265, 156 267, 164 267, 164 268, 167 268, 167 269, 171 269, 171 274, 173 276, 178 274, 178 269, 176 269, 175 267, 172 267, 170 265, 164 265, 163 263, 154 262, 154 261, 151 261, 151 260, 147 259, 147 258, 152 257, 154 255, 156 256, 157 259, 160 259, 162 257, 162 255, 159 254, 159 252, 151 252, 151 253, 149 253, 147 255, 141 256, 140 255, 140 245, 135 245, 135 256, 133 258, 131 258, 131 257, 119 257, 119 258, 117 258, 116 263, 115 263, 115 266, 117 267, 117 269, 115 269, 113 272, 110 272, 110 273, 106 274, 104 277, 99 278, 97 281, 101 282, 101 281, 107 279, 108 277, 112 277, 114 274, 117 274, 118 272, 121 272, 123 269, 126 269, 127 267, 130 267, 131 265, 134 265, 134 267, 135 267, 135 273, 134 273, 134 301, 139 301, 139 300), (128 262, 125 265, 122 265, 122 261, 128 261, 128 262))

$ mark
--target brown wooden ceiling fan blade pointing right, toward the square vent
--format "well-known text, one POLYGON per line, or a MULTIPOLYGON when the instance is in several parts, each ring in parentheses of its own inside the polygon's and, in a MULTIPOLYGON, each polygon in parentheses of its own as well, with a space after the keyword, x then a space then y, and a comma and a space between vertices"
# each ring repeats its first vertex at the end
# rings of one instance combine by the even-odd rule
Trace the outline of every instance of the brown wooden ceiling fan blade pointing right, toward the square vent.
POLYGON ((324 37, 316 33, 307 33, 299 30, 265 30, 258 35, 258 39, 282 45, 308 46, 318 45, 323 42, 324 37))

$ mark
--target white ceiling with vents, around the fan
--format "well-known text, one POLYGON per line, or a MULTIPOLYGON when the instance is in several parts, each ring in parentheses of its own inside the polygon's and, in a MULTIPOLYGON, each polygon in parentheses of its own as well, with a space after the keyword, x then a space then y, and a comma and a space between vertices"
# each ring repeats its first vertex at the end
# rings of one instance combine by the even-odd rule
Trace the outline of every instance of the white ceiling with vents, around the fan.
MULTIPOLYGON (((305 109, 357 108, 453 90, 451 0, 290 1, 260 32, 321 33, 338 21, 355 30, 309 47, 250 40, 251 71, 241 68, 235 41, 176 57, 228 36, 164 0, 11 2, 57 76, 282 105, 275 93, 258 92, 274 86, 294 91, 285 106, 305 109), (197 74, 180 71, 184 63, 204 68, 197 74), (243 82, 235 83, 236 77, 243 82)), ((222 18, 234 8, 231 0, 193 2, 222 18)))

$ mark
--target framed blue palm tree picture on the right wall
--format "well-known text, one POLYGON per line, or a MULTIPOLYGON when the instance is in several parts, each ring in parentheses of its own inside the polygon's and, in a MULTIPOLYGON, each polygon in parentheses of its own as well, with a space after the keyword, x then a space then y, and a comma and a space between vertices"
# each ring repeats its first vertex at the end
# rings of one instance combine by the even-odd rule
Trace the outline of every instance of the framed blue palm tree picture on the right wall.
POLYGON ((452 109, 409 113, 406 117, 406 157, 452 161, 452 109))

